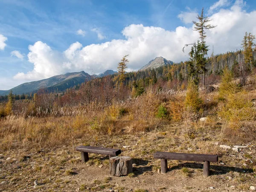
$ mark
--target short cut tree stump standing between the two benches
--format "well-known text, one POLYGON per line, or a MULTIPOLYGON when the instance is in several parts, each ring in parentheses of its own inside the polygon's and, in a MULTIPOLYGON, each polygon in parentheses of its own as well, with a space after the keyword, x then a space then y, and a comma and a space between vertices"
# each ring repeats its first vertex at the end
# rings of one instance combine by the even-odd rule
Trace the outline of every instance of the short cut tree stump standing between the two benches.
POLYGON ((128 156, 110 158, 110 175, 123 176, 132 173, 132 159, 128 156))

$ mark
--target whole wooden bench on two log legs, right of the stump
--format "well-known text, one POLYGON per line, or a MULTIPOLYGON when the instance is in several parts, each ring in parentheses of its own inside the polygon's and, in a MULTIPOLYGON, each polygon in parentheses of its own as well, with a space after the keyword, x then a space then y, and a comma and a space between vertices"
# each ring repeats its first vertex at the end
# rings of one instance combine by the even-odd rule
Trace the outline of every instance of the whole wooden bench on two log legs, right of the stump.
POLYGON ((183 160, 183 161, 203 161, 204 162, 204 177, 208 177, 210 173, 210 162, 217 162, 218 155, 209 154, 187 154, 187 153, 169 153, 157 151, 154 153, 154 158, 161 159, 161 173, 167 172, 167 159, 183 160))

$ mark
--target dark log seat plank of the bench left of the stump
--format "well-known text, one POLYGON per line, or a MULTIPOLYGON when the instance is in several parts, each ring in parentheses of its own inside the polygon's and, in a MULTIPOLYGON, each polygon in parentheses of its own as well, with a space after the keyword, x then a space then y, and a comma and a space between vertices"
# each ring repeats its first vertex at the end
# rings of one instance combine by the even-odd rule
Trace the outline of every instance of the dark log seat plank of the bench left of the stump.
POLYGON ((105 154, 105 155, 113 155, 117 156, 121 154, 120 149, 115 148, 103 148, 103 147, 92 147, 92 146, 77 146, 76 151, 83 151, 86 153, 96 153, 96 154, 105 154))

